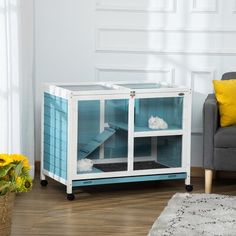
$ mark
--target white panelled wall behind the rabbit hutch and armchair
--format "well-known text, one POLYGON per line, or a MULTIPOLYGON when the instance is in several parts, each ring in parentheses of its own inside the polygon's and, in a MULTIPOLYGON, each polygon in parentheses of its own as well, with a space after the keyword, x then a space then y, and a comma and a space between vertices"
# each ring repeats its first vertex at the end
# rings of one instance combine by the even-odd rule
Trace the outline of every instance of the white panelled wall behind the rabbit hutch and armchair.
POLYGON ((38 130, 43 82, 164 79, 193 89, 201 166, 202 104, 211 81, 236 70, 235 22, 236 0, 36 0, 38 130))

